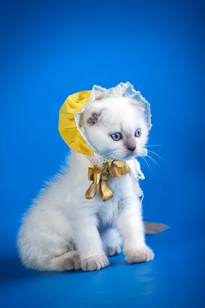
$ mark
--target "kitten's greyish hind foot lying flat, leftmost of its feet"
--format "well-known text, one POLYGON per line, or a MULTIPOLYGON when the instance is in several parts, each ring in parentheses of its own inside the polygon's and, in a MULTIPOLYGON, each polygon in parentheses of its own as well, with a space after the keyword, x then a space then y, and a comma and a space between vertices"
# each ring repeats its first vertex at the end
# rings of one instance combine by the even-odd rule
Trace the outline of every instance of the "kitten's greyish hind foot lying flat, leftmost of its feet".
POLYGON ((50 260, 50 271, 76 271, 80 269, 80 257, 77 251, 69 251, 50 260))

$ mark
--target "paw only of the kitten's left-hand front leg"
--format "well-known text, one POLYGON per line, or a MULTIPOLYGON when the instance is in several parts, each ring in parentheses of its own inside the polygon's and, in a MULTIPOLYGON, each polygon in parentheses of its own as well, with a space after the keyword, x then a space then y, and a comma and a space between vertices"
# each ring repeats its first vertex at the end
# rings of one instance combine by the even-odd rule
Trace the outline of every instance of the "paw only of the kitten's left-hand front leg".
POLYGON ((109 265, 106 256, 89 257, 81 261, 83 271, 97 271, 97 269, 107 267, 109 265))

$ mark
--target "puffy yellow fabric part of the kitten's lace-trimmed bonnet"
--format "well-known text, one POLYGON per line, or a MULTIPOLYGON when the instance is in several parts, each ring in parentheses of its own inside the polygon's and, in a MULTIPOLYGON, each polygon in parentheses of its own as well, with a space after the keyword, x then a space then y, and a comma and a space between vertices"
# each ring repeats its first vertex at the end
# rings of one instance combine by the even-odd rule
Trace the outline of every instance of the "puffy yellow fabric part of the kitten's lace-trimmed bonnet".
POLYGON ((78 151, 87 156, 92 156, 92 150, 87 146, 85 139, 79 132, 74 114, 81 111, 81 109, 88 103, 90 99, 91 90, 81 91, 69 95, 61 106, 59 111, 58 130, 60 136, 66 144, 74 151, 78 151))

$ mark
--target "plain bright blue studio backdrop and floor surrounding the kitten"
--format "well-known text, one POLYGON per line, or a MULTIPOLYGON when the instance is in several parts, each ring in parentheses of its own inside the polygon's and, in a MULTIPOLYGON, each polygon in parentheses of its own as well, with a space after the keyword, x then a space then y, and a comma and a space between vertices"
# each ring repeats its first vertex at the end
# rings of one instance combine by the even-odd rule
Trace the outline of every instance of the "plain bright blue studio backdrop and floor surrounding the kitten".
POLYGON ((201 307, 204 302, 204 4, 202 1, 1 2, 2 307, 201 307), (16 253, 22 214, 68 147, 58 111, 69 94, 130 81, 151 103, 146 180, 153 262, 119 255, 98 272, 38 273, 16 253), (154 156, 153 156, 154 158, 154 156), (152 164, 152 163, 151 163, 152 164))

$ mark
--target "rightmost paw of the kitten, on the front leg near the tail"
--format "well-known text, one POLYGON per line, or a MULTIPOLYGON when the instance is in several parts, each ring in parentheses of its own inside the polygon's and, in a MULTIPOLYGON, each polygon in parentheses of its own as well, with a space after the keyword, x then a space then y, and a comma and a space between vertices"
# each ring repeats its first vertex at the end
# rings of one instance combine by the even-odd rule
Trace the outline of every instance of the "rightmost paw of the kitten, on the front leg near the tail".
POLYGON ((148 246, 138 249, 128 249, 124 252, 124 254, 126 256, 126 260, 130 264, 148 262, 154 259, 154 253, 148 246))

